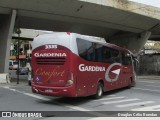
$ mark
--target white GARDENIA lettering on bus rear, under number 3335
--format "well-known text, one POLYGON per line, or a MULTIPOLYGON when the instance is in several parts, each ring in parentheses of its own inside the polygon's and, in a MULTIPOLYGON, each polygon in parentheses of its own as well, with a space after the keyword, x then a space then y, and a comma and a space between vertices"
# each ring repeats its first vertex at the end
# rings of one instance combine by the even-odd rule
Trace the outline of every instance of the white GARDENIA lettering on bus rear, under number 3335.
POLYGON ((66 53, 35 53, 35 57, 66 57, 66 53))

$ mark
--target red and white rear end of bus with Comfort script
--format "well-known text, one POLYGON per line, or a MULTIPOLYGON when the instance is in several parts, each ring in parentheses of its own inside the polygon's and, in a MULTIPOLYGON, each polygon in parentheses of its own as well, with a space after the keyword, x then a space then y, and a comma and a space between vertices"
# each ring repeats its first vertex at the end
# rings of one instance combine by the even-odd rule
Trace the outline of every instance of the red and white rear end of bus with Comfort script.
POLYGON ((34 93, 74 97, 73 73, 70 71, 70 36, 39 36, 33 42, 32 68, 34 93), (44 42, 44 44, 42 44, 44 42), (65 45, 63 45, 65 44, 65 45))

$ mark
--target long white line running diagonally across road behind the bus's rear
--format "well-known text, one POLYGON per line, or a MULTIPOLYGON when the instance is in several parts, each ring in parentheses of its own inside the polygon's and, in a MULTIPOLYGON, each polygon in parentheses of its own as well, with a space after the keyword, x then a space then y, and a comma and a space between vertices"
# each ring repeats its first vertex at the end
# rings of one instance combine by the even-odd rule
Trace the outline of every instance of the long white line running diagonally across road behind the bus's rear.
MULTIPOLYGON (((33 97, 33 98, 36 98, 36 99, 40 99, 40 100, 44 100, 44 101, 50 101, 49 98, 41 97, 39 95, 35 95, 35 94, 32 94, 32 93, 22 92, 22 91, 19 91, 19 90, 16 90, 16 89, 12 89, 10 87, 3 87, 3 88, 14 91, 14 92, 18 92, 18 93, 21 93, 21 94, 24 94, 24 95, 27 95, 27 96, 30 96, 30 97, 33 97)), ((68 107, 70 109, 74 109, 74 110, 78 110, 78 111, 85 111, 86 113, 94 115, 94 116, 102 116, 102 117, 106 116, 105 114, 102 114, 102 113, 99 113, 99 112, 94 112, 92 110, 85 109, 85 108, 82 108, 82 107, 73 106, 73 105, 69 105, 69 104, 65 104, 65 103, 59 103, 59 102, 55 102, 55 101, 54 101, 54 103, 58 104, 58 105, 61 105, 61 106, 64 106, 64 107, 68 107)))

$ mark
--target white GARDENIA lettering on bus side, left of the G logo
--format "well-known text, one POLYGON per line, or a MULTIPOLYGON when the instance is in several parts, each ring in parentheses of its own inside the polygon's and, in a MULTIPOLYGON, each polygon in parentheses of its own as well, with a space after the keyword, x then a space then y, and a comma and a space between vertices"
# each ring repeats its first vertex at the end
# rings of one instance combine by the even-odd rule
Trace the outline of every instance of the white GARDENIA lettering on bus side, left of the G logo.
POLYGON ((79 65, 80 71, 106 71, 105 67, 99 67, 99 66, 85 66, 85 64, 79 65))

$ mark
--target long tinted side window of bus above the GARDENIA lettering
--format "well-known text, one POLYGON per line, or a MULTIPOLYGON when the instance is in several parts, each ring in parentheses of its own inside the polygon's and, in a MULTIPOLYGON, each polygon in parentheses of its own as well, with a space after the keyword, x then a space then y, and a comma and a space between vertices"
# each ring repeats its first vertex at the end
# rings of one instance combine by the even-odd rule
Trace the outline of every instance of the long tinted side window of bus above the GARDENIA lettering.
POLYGON ((77 46, 79 56, 85 60, 121 63, 121 54, 118 50, 82 39, 77 39, 77 46))

